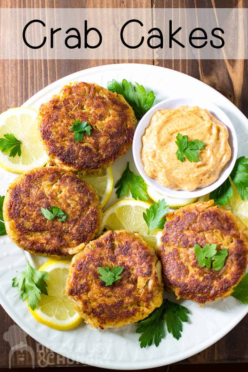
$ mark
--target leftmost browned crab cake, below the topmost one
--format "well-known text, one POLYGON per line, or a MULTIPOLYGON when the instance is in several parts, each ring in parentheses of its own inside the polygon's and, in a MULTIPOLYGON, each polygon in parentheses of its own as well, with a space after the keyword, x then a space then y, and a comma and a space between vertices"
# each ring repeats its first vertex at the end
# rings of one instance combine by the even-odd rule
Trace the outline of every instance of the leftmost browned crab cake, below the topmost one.
POLYGON ((102 224, 102 209, 93 188, 58 167, 36 168, 17 177, 3 204, 9 238, 34 254, 66 256, 77 253, 94 238, 102 224), (41 207, 59 207, 67 217, 51 221, 41 207))

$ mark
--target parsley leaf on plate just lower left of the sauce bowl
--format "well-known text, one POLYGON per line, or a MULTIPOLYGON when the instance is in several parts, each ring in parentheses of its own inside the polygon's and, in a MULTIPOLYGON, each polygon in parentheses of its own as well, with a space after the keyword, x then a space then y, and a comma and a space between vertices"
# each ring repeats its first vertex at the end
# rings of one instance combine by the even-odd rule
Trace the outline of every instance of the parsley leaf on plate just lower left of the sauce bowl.
POLYGON ((119 181, 115 184, 118 199, 126 194, 128 187, 130 187, 133 199, 142 201, 148 200, 146 183, 141 176, 136 176, 136 174, 129 169, 129 161, 119 181))

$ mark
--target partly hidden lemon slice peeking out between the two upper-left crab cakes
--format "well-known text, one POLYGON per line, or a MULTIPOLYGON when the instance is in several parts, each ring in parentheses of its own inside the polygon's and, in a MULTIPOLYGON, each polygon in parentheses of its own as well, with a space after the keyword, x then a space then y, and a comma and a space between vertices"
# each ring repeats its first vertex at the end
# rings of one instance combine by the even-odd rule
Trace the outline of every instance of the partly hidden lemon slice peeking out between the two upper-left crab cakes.
POLYGON ((113 173, 111 167, 102 169, 101 173, 96 175, 80 177, 83 177, 96 191, 103 208, 109 201, 113 189, 113 173))

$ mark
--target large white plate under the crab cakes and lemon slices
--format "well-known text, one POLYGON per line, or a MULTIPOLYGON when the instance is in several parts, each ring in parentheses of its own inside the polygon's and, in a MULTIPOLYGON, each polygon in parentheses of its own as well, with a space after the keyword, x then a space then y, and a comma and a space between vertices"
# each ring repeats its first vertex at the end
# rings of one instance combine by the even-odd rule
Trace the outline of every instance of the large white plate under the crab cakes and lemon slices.
MULTIPOLYGON (((64 77, 36 93, 23 106, 38 109, 41 103, 69 81, 87 81, 107 87, 107 81, 126 78, 134 84, 143 84, 146 90, 153 90, 155 103, 178 96, 197 96, 214 102, 230 118, 238 135, 238 156, 247 155, 248 120, 222 94, 206 84, 177 71, 142 64, 116 64, 90 68, 64 77)), ((10 103, 11 106, 11 103, 10 103)), ((131 150, 113 165, 114 185, 130 161, 134 169, 131 150)), ((7 191, 16 174, 0 170, 0 195, 7 191)), ((113 190, 107 206, 116 202, 113 190)), ((194 302, 180 301, 190 310, 189 323, 183 323, 180 340, 174 339, 166 330, 166 337, 158 347, 154 344, 145 349, 139 346, 136 325, 99 331, 90 325, 80 325, 69 331, 56 331, 38 323, 30 314, 26 301, 15 297, 12 278, 20 272, 29 260, 36 268, 46 259, 32 256, 11 243, 7 235, 0 238, 0 302, 10 317, 31 337, 51 350, 81 363, 111 369, 153 368, 188 358, 228 333, 248 312, 248 305, 241 305, 235 298, 228 297, 200 308, 194 302)), ((169 296, 175 299, 174 295, 169 296)))

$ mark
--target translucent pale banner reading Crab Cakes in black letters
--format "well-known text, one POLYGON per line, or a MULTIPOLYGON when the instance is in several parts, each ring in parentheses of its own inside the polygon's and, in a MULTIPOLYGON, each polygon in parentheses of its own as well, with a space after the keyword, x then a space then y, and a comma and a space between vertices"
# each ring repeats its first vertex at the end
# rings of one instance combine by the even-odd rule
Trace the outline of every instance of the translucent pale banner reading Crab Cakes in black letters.
POLYGON ((0 9, 0 59, 247 59, 247 9, 0 9))

